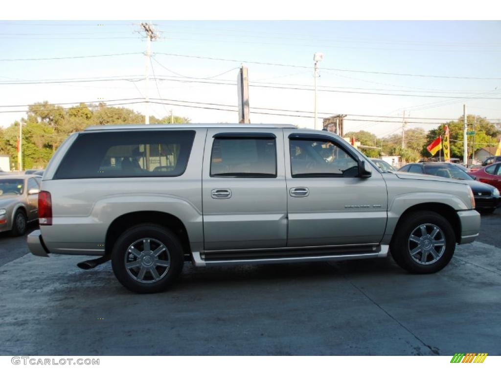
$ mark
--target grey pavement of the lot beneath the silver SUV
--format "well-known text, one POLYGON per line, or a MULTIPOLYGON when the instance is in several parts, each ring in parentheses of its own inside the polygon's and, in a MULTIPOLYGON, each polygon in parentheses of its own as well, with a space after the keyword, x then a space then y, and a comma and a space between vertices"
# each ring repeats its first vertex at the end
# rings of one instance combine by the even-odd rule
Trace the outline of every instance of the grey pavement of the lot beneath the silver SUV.
POLYGON ((440 273, 393 260, 195 269, 137 295, 109 263, 0 234, 0 355, 501 354, 501 209, 440 273))

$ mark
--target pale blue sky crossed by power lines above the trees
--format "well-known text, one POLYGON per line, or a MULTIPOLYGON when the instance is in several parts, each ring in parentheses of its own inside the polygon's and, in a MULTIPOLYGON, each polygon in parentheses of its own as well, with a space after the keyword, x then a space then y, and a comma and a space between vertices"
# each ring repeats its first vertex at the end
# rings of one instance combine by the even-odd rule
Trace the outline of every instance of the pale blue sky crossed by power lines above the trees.
MULTIPOLYGON (((408 128, 428 130, 442 119, 461 116, 463 103, 468 113, 501 118, 498 21, 0 21, 0 51, 3 127, 26 116, 2 112, 26 107, 7 106, 44 100, 132 102, 146 92, 150 98, 169 100, 170 104, 150 105, 156 117, 173 111, 194 123, 237 122, 236 112, 179 105, 236 106, 236 76, 243 64, 251 85, 289 87, 250 86, 252 123, 312 128, 315 52, 324 54, 317 79, 319 118, 348 114, 345 132, 367 130, 378 136, 399 132, 404 110, 411 117, 408 128), (146 39, 139 33, 141 22, 153 24, 160 36, 151 44, 148 88, 143 79, 146 39), (128 55, 19 60, 113 54, 128 55), (20 83, 111 76, 134 76, 138 81, 20 83), (258 113, 277 113, 277 109, 309 117, 258 113)), ((142 113, 146 109, 143 103, 125 106, 142 113)))

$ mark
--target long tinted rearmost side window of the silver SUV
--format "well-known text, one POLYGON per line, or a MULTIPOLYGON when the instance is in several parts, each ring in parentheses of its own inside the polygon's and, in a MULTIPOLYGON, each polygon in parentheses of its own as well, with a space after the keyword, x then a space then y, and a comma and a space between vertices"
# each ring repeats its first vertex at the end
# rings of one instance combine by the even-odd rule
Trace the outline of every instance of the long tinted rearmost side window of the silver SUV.
POLYGON ((179 176, 194 136, 191 130, 82 133, 54 178, 179 176))

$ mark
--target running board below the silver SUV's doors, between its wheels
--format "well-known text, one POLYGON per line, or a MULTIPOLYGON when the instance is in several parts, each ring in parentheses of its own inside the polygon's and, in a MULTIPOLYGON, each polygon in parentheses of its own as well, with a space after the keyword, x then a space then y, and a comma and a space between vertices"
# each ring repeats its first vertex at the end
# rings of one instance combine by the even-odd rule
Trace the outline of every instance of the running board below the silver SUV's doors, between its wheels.
MULTIPOLYGON (((387 245, 289 249, 289 250, 232 250, 203 255, 205 265, 277 264, 312 261, 343 261, 386 257, 387 245)), ((201 266, 201 265, 200 265, 201 266)))

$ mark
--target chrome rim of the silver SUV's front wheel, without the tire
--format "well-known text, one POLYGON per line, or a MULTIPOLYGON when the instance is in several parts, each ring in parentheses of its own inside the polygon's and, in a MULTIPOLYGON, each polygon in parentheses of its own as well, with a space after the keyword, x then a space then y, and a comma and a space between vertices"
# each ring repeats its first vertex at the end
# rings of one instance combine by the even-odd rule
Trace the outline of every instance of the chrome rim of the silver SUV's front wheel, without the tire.
POLYGON ((408 250, 412 259, 421 265, 433 264, 445 252, 445 235, 438 226, 425 223, 409 236, 408 250))

